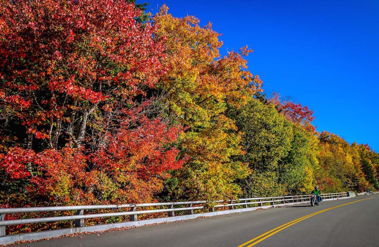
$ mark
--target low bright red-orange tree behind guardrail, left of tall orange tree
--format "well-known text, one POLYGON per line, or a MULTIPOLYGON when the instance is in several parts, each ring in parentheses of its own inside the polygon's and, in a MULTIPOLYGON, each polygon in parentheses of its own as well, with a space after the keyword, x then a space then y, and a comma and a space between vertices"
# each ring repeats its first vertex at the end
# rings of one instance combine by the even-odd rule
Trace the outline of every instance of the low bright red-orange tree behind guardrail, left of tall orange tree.
POLYGON ((151 201, 152 195, 162 189, 161 178, 168 177, 167 171, 182 166, 184 160, 177 161, 179 150, 166 148, 176 141, 180 131, 179 126, 168 127, 159 118, 136 116, 122 123, 107 145, 93 154, 92 162, 96 169, 122 184, 123 189, 117 190, 120 197, 128 202, 151 201))

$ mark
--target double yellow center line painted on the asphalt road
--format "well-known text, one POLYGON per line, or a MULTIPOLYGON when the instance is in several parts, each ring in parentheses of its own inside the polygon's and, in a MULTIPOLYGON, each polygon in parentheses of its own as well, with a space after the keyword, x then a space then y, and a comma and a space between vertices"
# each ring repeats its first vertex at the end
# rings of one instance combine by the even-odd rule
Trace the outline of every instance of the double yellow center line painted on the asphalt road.
POLYGON ((258 237, 253 238, 253 239, 247 241, 246 243, 243 243, 243 244, 239 245, 238 247, 243 247, 243 246, 245 246, 245 247, 251 247, 251 246, 253 246, 253 245, 255 245, 255 244, 258 244, 259 242, 265 240, 266 238, 269 238, 270 236, 273 236, 275 233, 278 233, 279 231, 284 230, 285 228, 290 227, 291 225, 294 225, 294 224, 296 224, 296 223, 298 223, 298 222, 300 222, 300 221, 302 221, 302 220, 308 219, 309 217, 315 216, 316 214, 321 214, 321 213, 324 213, 324 212, 326 212, 326 211, 329 211, 329 210, 332 210, 332 209, 335 209, 335 208, 339 208, 339 207, 341 207, 341 206, 349 205, 349 204, 351 204, 351 203, 360 202, 360 201, 367 200, 367 199, 370 199, 370 198, 374 198, 374 197, 369 197, 369 198, 365 198, 365 199, 362 199, 362 200, 358 200, 358 201, 354 201, 354 202, 345 203, 345 204, 342 204, 342 205, 339 205, 339 206, 335 206, 335 207, 332 207, 332 208, 327 208, 327 209, 324 209, 324 210, 318 211, 318 212, 313 213, 313 214, 308 214, 308 215, 303 216, 303 217, 301 217, 301 218, 299 218, 299 219, 292 220, 291 222, 288 222, 288 223, 286 223, 286 224, 284 224, 284 225, 281 225, 281 226, 279 226, 279 227, 277 227, 277 228, 274 228, 274 229, 271 230, 271 231, 265 232, 265 233, 259 235, 258 237), (266 236, 266 235, 267 235, 267 236, 266 236), (257 240, 257 239, 259 239, 259 240, 257 240), (248 244, 248 245, 247 245, 247 244, 248 244), (246 245, 247 245, 247 246, 246 246, 246 245))

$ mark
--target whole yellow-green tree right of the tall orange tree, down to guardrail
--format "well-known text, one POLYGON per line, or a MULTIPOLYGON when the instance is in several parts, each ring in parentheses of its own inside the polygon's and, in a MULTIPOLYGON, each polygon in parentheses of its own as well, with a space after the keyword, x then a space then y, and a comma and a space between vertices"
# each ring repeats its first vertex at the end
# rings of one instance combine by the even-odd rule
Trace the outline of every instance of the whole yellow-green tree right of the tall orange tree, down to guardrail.
POLYGON ((244 154, 236 158, 253 170, 246 180, 241 180, 245 196, 276 195, 277 188, 281 187, 282 167, 278 162, 290 151, 293 139, 290 122, 278 114, 273 105, 264 105, 252 97, 244 106, 230 105, 227 114, 242 132, 244 154), (262 184, 263 181, 266 184, 262 184))

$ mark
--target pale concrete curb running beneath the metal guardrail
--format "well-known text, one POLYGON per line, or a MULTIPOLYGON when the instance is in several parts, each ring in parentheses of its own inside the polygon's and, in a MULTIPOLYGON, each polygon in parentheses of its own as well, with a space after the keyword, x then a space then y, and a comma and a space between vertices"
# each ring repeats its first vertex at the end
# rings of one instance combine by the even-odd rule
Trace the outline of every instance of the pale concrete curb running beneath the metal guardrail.
MULTIPOLYGON (((341 197, 338 199, 337 198, 324 199, 324 201, 340 200, 340 199, 347 199, 347 198, 350 198, 350 197, 341 197)), ((272 208, 275 206, 290 206, 290 205, 305 204, 305 203, 309 203, 309 201, 290 202, 290 203, 277 204, 274 206, 267 205, 267 206, 251 207, 251 208, 230 209, 230 210, 223 210, 223 211, 216 211, 216 212, 209 212, 209 213, 189 214, 189 215, 183 215, 183 216, 128 221, 128 222, 113 223, 113 224, 92 225, 88 227, 64 228, 64 229, 57 229, 57 230, 52 230, 52 231, 38 231, 34 233, 12 234, 5 237, 0 237, 0 245, 13 244, 14 242, 17 242, 17 241, 35 241, 35 240, 40 240, 40 239, 45 239, 45 238, 55 238, 55 237, 60 237, 66 234, 84 233, 84 232, 91 233, 91 232, 96 232, 96 231, 106 231, 106 230, 110 230, 114 228, 122 228, 122 227, 141 227, 141 226, 150 225, 150 224, 175 222, 177 220, 189 220, 189 219, 196 219, 198 217, 209 217, 209 216, 217 216, 217 215, 223 215, 223 214, 241 213, 241 212, 254 211, 260 208, 266 209, 266 208, 272 208)))

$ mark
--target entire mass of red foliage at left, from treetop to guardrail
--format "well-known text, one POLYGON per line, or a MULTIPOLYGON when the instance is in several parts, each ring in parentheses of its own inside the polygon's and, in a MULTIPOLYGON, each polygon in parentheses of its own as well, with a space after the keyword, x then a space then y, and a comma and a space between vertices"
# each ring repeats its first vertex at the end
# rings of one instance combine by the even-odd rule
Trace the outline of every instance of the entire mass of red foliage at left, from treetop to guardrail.
POLYGON ((182 161, 147 92, 156 26, 125 0, 2 1, 0 198, 10 206, 148 202, 182 161))

